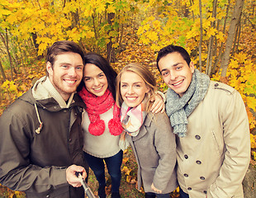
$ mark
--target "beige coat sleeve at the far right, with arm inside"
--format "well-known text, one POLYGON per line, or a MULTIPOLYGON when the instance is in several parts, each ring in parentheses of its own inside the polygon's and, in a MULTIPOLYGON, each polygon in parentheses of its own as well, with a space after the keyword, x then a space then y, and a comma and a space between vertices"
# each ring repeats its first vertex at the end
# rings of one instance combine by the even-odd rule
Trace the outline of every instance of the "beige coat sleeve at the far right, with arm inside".
POLYGON ((220 175, 207 191, 207 198, 228 198, 235 195, 249 167, 249 120, 239 92, 226 97, 220 106, 225 143, 220 175))

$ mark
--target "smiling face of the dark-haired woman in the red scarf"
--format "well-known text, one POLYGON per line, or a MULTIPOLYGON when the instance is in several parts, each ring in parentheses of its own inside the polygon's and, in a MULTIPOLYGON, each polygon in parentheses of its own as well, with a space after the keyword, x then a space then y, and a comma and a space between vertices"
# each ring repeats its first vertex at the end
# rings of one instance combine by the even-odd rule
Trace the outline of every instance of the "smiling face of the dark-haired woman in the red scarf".
POLYGON ((97 97, 102 97, 108 87, 105 73, 95 64, 85 64, 83 82, 88 92, 97 97))

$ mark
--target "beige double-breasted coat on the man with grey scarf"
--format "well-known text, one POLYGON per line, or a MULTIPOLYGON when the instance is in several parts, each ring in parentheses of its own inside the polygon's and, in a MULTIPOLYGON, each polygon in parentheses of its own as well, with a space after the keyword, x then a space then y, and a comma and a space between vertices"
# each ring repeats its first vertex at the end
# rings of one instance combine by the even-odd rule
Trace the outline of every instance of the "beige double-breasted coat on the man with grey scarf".
POLYGON ((211 82, 206 97, 188 117, 178 138, 178 182, 190 198, 244 197, 249 167, 249 121, 234 88, 211 82))

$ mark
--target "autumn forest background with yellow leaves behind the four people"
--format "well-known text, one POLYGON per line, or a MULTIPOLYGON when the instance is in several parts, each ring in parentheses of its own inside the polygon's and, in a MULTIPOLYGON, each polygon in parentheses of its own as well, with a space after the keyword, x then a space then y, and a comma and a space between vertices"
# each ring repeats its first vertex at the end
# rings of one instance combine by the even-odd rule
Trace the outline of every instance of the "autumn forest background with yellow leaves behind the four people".
MULTIPOLYGON (((255 6, 254 0, 0 0, 0 115, 45 75, 45 51, 56 40, 73 40, 86 52, 102 54, 117 72, 131 62, 144 64, 161 91, 167 86, 155 67, 157 52, 182 45, 198 69, 243 97, 255 166, 255 6)), ((123 197, 143 197, 135 179, 128 149, 123 197)), ((89 184, 97 191, 93 174, 89 184)), ((0 186, 0 197, 25 196, 0 186)))

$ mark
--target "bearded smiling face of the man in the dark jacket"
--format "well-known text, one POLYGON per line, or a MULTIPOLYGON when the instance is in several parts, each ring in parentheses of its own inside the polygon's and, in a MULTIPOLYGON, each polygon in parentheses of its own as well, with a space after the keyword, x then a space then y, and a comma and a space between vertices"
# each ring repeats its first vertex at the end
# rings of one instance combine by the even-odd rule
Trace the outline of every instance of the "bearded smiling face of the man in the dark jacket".
POLYGON ((46 63, 50 82, 59 92, 64 101, 77 90, 83 78, 83 59, 80 54, 65 52, 55 57, 54 65, 46 63))

